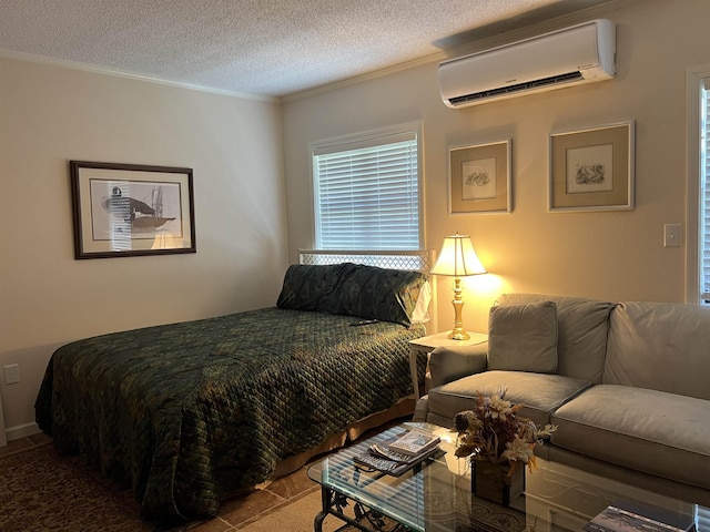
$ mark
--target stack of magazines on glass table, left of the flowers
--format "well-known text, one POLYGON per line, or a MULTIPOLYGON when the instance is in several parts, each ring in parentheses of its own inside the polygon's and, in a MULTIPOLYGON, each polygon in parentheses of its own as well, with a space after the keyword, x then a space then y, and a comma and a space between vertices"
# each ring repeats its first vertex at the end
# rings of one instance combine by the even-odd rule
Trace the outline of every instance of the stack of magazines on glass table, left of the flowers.
POLYGON ((440 438, 420 429, 408 429, 394 440, 373 443, 353 457, 359 467, 399 477, 439 450, 440 438))

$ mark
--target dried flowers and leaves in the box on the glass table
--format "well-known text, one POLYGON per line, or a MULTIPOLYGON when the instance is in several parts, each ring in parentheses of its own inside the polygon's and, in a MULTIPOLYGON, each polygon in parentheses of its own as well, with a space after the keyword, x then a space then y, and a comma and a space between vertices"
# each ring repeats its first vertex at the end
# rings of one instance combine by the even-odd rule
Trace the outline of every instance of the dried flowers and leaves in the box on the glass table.
POLYGON ((505 389, 490 396, 478 392, 474 409, 456 415, 456 456, 507 466, 510 472, 517 464, 527 464, 531 471, 535 446, 541 444, 557 427, 539 428, 531 420, 518 417, 516 413, 524 405, 511 405, 505 399, 505 389))

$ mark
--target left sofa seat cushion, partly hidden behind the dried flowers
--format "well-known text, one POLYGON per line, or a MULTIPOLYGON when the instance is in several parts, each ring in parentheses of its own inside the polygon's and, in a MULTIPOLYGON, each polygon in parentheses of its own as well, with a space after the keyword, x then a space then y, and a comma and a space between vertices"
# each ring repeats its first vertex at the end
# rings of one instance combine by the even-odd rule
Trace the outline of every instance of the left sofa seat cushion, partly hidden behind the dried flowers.
POLYGON ((456 413, 470 410, 478 391, 491 395, 505 389, 508 401, 525 405, 520 416, 530 418, 537 424, 547 424, 555 409, 589 386, 591 382, 587 380, 559 375, 484 371, 432 388, 428 408, 430 415, 437 420, 448 420, 450 427, 456 413))

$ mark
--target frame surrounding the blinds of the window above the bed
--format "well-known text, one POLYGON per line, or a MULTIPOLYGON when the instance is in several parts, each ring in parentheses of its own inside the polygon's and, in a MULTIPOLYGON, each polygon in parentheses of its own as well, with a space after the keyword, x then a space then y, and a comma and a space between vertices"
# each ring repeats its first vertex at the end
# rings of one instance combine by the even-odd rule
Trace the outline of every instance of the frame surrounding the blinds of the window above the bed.
MULTIPOLYGON (((321 141, 313 141, 308 143, 308 168, 311 175, 311 215, 312 215, 312 225, 311 225, 311 238, 313 243, 313 248, 320 248, 318 243, 318 202, 317 202, 317 187, 318 184, 316 182, 316 168, 315 168, 315 155, 316 152, 332 151, 336 152, 338 149, 343 151, 348 150, 348 146, 353 146, 356 144, 361 145, 378 145, 386 144, 386 142, 378 143, 378 140, 385 140, 387 137, 393 137, 397 135, 405 135, 408 133, 414 133, 416 135, 416 149, 417 149, 417 217, 418 217, 418 241, 419 247, 418 249, 424 249, 425 235, 424 235, 424 134, 423 134, 423 123, 420 121, 417 122, 407 122, 398 125, 381 127, 376 130, 368 130, 354 134, 346 134, 336 137, 325 139, 321 141)), ((331 252, 337 250, 351 250, 351 249, 327 249, 331 252)))

